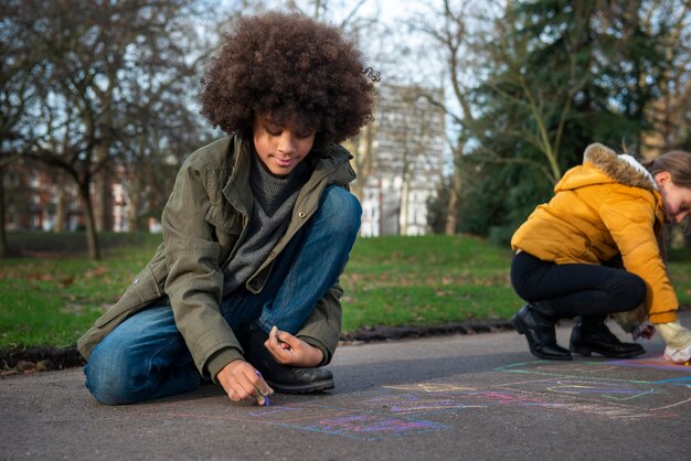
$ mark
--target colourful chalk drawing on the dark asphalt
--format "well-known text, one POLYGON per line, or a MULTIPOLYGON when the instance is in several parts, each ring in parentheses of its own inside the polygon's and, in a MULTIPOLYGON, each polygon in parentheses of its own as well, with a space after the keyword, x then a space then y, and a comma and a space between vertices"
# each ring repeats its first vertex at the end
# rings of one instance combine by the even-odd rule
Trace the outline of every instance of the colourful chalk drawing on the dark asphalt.
POLYGON ((301 397, 298 401, 274 397, 270 407, 230 410, 215 405, 219 397, 213 397, 206 412, 185 412, 189 403, 172 403, 151 406, 148 414, 264 424, 372 441, 454 429, 463 414, 502 411, 506 407, 613 419, 674 418, 691 410, 690 375, 689 367, 655 360, 536 361, 373 390, 301 397), (618 378, 621 367, 636 367, 640 379, 618 378))

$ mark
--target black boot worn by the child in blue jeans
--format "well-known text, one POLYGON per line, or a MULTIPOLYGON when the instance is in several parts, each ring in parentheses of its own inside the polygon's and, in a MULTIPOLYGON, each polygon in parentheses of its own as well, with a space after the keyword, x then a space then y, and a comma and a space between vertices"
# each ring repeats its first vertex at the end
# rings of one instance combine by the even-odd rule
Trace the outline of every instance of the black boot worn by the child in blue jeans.
POLYGON ((264 346, 268 334, 258 328, 241 340, 245 360, 262 373, 264 380, 277 393, 308 394, 334 387, 333 374, 326 368, 300 368, 276 362, 264 346))

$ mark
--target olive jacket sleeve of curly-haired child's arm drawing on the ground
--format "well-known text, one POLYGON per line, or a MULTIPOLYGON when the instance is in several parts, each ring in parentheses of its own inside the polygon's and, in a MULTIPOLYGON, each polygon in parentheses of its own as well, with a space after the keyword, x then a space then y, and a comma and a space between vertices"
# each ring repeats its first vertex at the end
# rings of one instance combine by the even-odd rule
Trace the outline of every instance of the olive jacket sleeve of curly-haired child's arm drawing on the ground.
POLYGON ((166 292, 198 369, 215 379, 215 374, 242 358, 243 352, 219 309, 223 272, 219 267, 221 248, 205 219, 210 206, 205 178, 188 161, 178 173, 161 219, 169 270, 166 292))

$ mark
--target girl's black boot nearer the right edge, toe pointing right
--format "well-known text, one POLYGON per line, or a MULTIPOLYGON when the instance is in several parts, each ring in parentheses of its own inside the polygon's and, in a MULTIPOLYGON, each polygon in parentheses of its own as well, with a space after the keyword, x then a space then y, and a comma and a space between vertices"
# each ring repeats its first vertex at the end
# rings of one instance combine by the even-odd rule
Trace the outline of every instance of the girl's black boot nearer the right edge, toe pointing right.
POLYGON ((635 357, 646 353, 640 344, 619 341, 600 318, 578 318, 571 332, 568 349, 581 355, 596 352, 615 358, 635 357))

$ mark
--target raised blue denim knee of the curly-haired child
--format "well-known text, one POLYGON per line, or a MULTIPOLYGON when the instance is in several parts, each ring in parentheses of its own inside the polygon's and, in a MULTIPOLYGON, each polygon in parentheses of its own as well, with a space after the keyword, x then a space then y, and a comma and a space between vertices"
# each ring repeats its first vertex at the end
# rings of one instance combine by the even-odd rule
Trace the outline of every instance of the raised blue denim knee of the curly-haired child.
POLYGON ((315 217, 317 222, 327 223, 334 234, 351 236, 360 230, 361 216, 362 207, 358 199, 346 189, 331 185, 323 192, 315 217))

